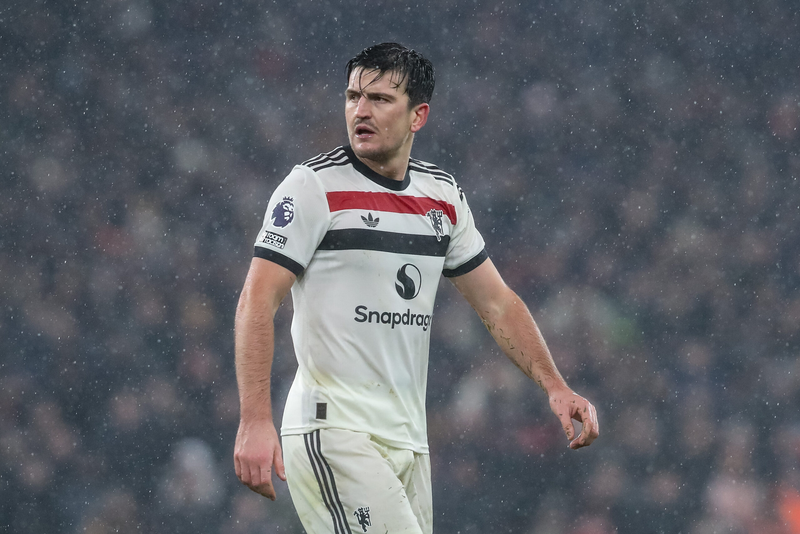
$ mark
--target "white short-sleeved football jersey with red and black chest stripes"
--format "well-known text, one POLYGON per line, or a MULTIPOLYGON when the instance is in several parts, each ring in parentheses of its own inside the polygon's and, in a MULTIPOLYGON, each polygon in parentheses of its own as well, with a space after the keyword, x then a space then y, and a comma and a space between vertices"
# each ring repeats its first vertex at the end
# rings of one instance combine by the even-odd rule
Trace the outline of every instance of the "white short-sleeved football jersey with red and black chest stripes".
POLYGON ((410 159, 402 181, 350 147, 292 169, 272 195, 255 255, 297 275, 298 371, 283 436, 343 428, 428 452, 425 391, 439 276, 487 255, 452 176, 410 159))

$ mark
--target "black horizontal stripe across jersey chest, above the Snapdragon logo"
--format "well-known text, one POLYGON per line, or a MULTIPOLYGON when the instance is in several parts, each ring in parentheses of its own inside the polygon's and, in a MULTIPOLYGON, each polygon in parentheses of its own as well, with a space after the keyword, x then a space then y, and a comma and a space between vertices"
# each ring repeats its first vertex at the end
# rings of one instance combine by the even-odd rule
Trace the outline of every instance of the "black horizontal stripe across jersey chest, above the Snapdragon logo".
POLYGON ((318 251, 382 251, 418 256, 442 256, 447 252, 450 235, 398 234, 369 228, 329 230, 318 251))

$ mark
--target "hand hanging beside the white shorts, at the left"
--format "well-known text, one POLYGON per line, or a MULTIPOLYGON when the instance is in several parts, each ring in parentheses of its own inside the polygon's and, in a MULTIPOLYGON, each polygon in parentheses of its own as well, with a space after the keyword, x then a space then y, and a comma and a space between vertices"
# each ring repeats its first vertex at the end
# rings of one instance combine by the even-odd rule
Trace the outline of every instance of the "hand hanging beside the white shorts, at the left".
POLYGON ((272 468, 281 480, 286 480, 283 454, 278 432, 270 420, 239 422, 234 445, 234 467, 236 476, 248 488, 275 500, 272 485, 272 468))

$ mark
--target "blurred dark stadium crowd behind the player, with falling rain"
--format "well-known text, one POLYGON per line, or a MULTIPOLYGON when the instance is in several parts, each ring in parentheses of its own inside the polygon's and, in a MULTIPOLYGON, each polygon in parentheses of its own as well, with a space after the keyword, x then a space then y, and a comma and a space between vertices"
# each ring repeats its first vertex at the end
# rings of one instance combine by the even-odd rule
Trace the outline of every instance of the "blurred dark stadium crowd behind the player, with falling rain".
MULTIPOLYGON (((302 532, 234 475, 234 307, 270 193, 346 143, 346 61, 436 68, 456 176, 601 436, 442 281, 435 531, 800 532, 792 0, 0 6, 0 531, 302 532)), ((296 363, 278 312, 274 404, 296 363)))

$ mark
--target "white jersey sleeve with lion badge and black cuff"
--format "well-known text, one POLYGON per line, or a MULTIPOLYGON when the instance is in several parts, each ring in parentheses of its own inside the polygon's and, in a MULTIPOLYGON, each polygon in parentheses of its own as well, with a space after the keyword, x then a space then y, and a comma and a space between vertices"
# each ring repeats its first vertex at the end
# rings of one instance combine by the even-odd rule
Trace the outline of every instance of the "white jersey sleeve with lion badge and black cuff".
POLYGON ((330 227, 330 211, 314 171, 294 167, 275 189, 258 232, 254 256, 300 275, 330 227))

